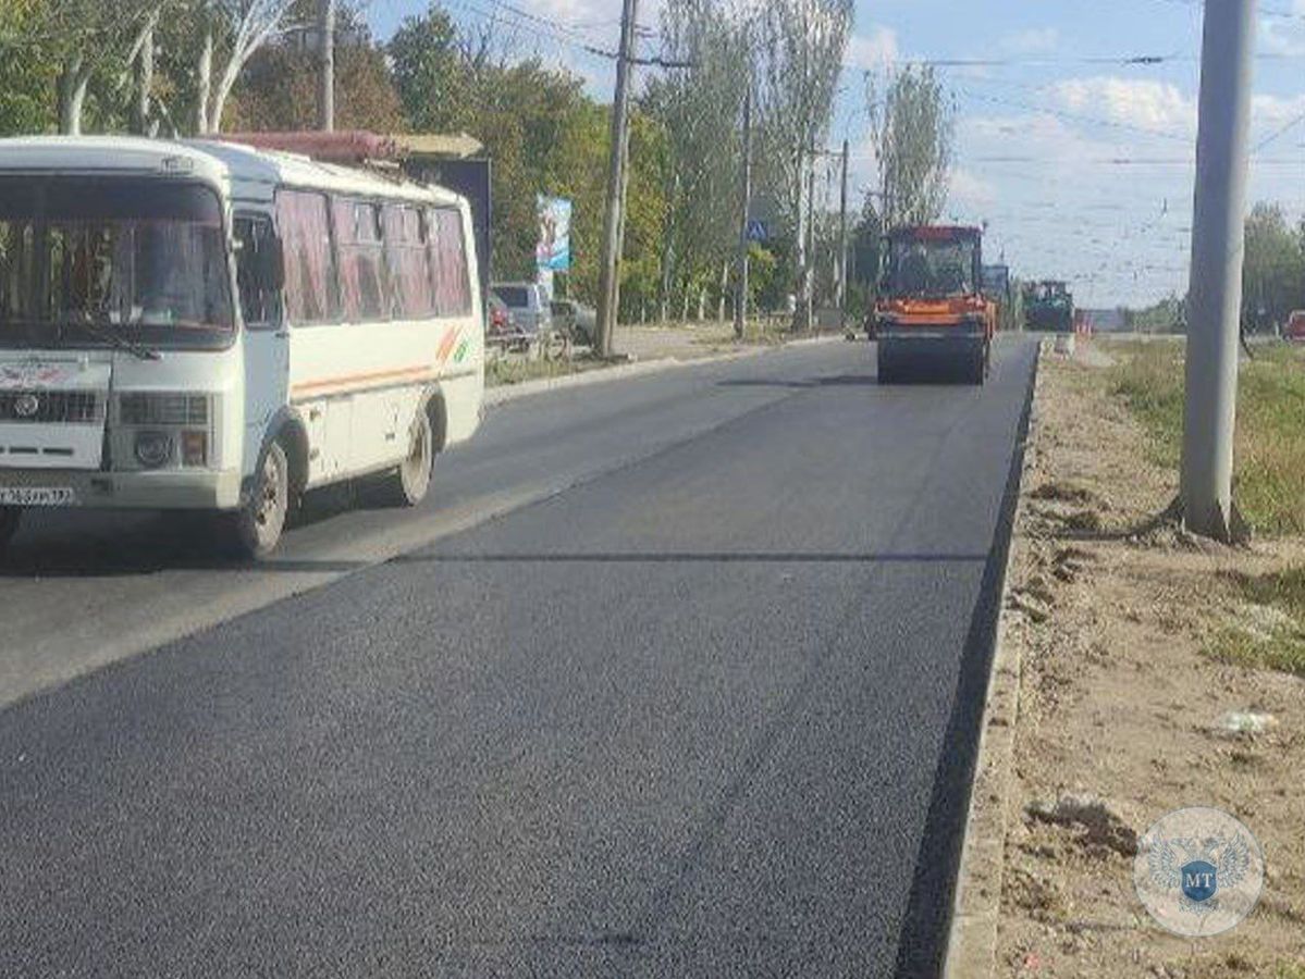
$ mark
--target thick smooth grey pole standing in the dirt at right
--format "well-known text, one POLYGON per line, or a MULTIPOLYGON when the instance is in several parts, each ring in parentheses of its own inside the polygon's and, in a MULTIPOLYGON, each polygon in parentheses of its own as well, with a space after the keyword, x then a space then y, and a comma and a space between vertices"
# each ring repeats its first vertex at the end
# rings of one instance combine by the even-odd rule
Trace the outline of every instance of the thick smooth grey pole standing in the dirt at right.
POLYGON ((1206 0, 1182 430, 1184 524, 1232 540, 1232 441, 1255 0, 1206 0))

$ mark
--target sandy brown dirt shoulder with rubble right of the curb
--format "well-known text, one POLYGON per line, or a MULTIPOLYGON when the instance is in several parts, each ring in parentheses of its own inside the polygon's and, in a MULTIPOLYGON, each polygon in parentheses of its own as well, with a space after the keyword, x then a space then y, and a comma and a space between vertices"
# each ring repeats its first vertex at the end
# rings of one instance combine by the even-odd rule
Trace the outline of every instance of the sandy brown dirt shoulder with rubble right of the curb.
POLYGON ((1305 670, 1284 650, 1305 622, 1283 572, 1305 540, 1232 549, 1155 524, 1176 476, 1129 400, 1135 355, 1040 370, 1002 622, 1013 764, 976 794, 1005 806, 996 974, 1302 979, 1305 670), (1233 813, 1266 856, 1257 910, 1201 941, 1156 926, 1131 879, 1137 837, 1185 806, 1233 813))

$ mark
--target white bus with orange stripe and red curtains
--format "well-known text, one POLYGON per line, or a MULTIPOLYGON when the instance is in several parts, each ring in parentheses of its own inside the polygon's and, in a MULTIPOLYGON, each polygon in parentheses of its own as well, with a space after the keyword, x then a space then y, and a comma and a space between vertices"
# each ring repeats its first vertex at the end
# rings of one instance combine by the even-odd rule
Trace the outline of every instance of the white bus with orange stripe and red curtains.
POLYGON ((252 557, 304 490, 401 503, 480 420, 467 203, 228 143, 0 141, 0 549, 29 507, 222 514, 252 557))

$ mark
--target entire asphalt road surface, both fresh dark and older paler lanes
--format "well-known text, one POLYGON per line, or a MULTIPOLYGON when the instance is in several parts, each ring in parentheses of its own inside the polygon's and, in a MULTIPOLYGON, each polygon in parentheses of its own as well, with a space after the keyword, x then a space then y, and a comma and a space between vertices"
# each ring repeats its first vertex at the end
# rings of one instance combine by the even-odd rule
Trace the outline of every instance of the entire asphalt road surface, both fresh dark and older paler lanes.
POLYGON ((495 408, 415 511, 33 520, 0 975, 933 975, 1036 345, 495 408))

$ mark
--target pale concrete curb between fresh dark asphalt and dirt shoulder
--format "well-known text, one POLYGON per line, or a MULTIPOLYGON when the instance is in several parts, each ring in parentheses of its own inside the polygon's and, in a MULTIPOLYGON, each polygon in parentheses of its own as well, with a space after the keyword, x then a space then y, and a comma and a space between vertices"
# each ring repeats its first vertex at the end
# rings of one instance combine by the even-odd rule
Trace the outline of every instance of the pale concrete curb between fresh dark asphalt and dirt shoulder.
POLYGON ((1011 546, 1001 572, 1001 606, 997 622, 997 645, 988 677, 983 725, 979 731, 979 756, 967 802, 966 837, 957 875, 951 928, 947 936, 946 979, 984 979, 997 974, 997 927, 1001 916, 1002 875, 1005 866, 1006 828, 1010 815, 1011 776, 1015 760, 1015 723, 1019 718, 1021 650, 1007 641, 1006 614, 1010 568, 1023 554, 1018 537, 1024 515, 1024 480, 1032 464, 1037 431, 1037 388, 1045 343, 1039 344, 1035 387, 1031 395, 1028 431, 1024 435, 1019 473, 1019 494, 1011 519, 1011 546), (990 803, 981 811, 975 800, 990 803))

